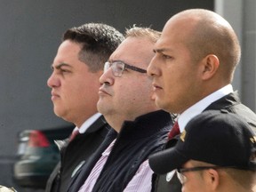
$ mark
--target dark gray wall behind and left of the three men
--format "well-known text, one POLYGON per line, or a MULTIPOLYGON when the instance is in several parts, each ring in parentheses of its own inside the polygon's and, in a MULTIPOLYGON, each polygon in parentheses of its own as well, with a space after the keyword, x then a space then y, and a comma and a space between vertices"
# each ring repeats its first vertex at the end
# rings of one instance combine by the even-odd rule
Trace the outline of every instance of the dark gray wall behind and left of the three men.
MULTIPOLYGON (((14 160, 18 132, 66 124, 52 112, 46 80, 67 28, 104 22, 120 31, 133 24, 161 30, 180 10, 213 8, 213 1, 205 0, 0 0, 0 4, 0 166, 5 169, 4 164, 14 160)), ((12 184, 4 178, 0 175, 0 184, 12 184)))

